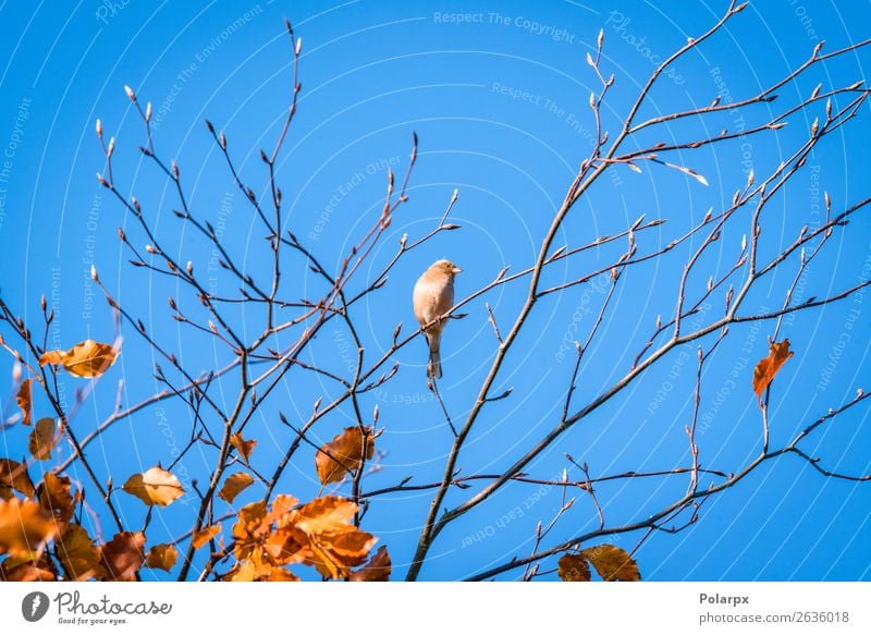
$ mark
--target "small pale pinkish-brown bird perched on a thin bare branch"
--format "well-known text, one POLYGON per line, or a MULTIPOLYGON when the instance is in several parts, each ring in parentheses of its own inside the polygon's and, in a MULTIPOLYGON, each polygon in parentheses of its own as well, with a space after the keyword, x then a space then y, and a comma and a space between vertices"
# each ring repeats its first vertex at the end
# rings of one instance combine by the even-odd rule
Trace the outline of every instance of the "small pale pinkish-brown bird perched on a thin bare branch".
MULTIPOLYGON (((454 276, 463 271, 451 260, 436 260, 417 280, 414 292, 415 317, 420 326, 447 313, 454 306, 454 276)), ((433 377, 442 376, 440 345, 445 321, 438 320, 427 328, 429 370, 433 377)))

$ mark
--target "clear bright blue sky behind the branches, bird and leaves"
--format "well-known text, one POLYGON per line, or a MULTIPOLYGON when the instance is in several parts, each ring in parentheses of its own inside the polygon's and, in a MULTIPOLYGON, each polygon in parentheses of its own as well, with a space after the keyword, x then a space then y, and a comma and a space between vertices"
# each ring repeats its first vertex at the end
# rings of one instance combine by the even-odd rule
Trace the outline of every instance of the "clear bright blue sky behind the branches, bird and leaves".
MULTIPOLYGON (((449 257, 464 268, 458 297, 487 283, 503 266, 520 268, 532 261, 576 164, 589 152, 592 118, 587 101, 597 81, 585 54, 594 46, 600 27, 605 38, 603 69, 616 75, 610 110, 604 113, 605 127, 613 135, 654 63, 687 36, 707 29, 725 5, 725 1, 687 2, 679 10, 667 10, 662 3, 616 0, 481 2, 468 20, 458 23, 449 16, 468 13, 468 3, 3 2, 0 151, 8 161, 8 174, 0 183, 3 298, 34 323, 39 319, 40 294, 53 302, 58 325, 49 341, 52 347, 68 347, 88 337, 108 340, 111 316, 90 283, 93 261, 116 297, 142 316, 193 373, 225 364, 225 351, 169 318, 165 296, 177 291, 165 279, 119 266, 126 257, 119 249, 116 228, 130 223, 94 176, 102 170, 94 121, 101 118, 107 135, 119 137, 116 181, 139 198, 179 258, 207 271, 210 251, 180 233, 181 225, 170 213, 176 205, 173 192, 151 164, 139 159, 142 124, 123 86, 134 87, 143 101, 150 100, 158 152, 177 159, 192 205, 212 222, 222 221, 233 253, 252 271, 262 272, 262 229, 231 185, 201 122, 208 117, 226 131, 244 178, 259 192, 266 180, 258 150, 273 143, 289 96, 290 51, 282 23, 286 15, 304 40, 299 112, 280 166, 293 231, 305 236, 326 264, 335 264, 340 248, 351 244, 378 213, 385 166, 398 171, 396 167, 404 164, 412 131, 420 137, 420 154, 410 200, 401 208, 366 274, 390 259, 403 233, 414 239, 434 227, 452 191, 461 192, 454 221, 463 230, 442 234, 414 252, 390 283, 358 307, 367 358, 373 359, 389 345, 397 321, 406 329, 413 325, 412 285, 432 260, 449 257)), ((867 37, 869 19, 871 7, 866 1, 753 2, 701 52, 680 60, 673 74, 660 80, 642 114, 707 103, 721 90, 734 98, 751 95, 807 59, 821 38, 834 49, 867 37)), ((762 122, 768 112, 795 103, 818 82, 831 87, 867 76, 868 54, 849 56, 808 73, 784 87, 774 103, 748 111, 747 124, 762 122)), ((755 137, 746 148, 732 144, 716 152, 676 157, 675 162, 686 161, 704 174, 710 187, 665 169, 646 167, 642 174, 615 170, 615 178, 605 174, 577 205, 557 243, 578 245, 621 231, 641 213, 668 219, 661 230, 639 235, 641 249, 667 243, 698 222, 709 207, 727 205, 733 192, 744 185, 750 164, 761 175, 788 156, 822 110, 820 106, 807 115, 794 115, 780 136, 755 137)), ((819 205, 823 190, 830 192, 836 209, 868 196, 867 110, 866 106, 862 119, 848 132, 832 135, 821 145, 788 193, 772 206, 763 220, 765 253, 774 253, 781 240, 789 240, 813 220, 813 206, 819 205)), ((708 125, 719 131, 739 122, 726 113, 708 125)), ((653 143, 687 138, 700 130, 698 124, 671 126, 646 138, 653 143)), ((731 265, 749 221, 744 218, 739 224, 703 261, 706 271, 722 272, 731 265)), ((826 254, 810 268, 801 285, 803 298, 824 296, 861 276, 871 251, 867 215, 848 230, 838 232, 826 254)), ((144 244, 139 233, 133 229, 130 233, 144 244)), ((577 403, 622 376, 651 332, 655 315, 673 310, 677 277, 689 246, 626 274, 582 371, 577 403)), ((578 276, 615 253, 605 249, 573 259, 547 280, 557 283, 578 276)), ((795 267, 795 259, 789 260, 781 273, 765 280, 748 298, 747 310, 780 306, 795 267)), ((707 274, 700 274, 691 289, 698 293, 706 281, 707 274)), ((289 296, 298 297, 311 292, 306 291, 310 284, 316 284, 310 278, 286 279, 285 289, 289 296)), ((226 293, 234 290, 223 277, 216 285, 226 293)), ((505 327, 526 289, 526 283, 503 288, 486 298, 505 327)), ((183 304, 192 305, 189 296, 181 297, 183 304)), ((459 462, 463 474, 504 469, 554 425, 572 366, 571 353, 561 354, 560 342, 575 328, 586 335, 592 316, 585 312, 597 310, 601 300, 601 286, 594 284, 572 289, 536 308, 496 382, 516 387, 515 393, 488 406, 459 462)), ((717 300, 710 315, 717 315, 720 306, 717 300)), ((471 303, 468 312, 466 319, 451 323, 443 343, 443 391, 455 419, 462 419, 473 403, 494 347, 483 298, 471 303)), ((256 316, 237 317, 249 332, 258 328, 256 316)), ((869 323, 861 302, 847 302, 809 312, 784 326, 796 356, 774 384, 773 445, 787 441, 830 406, 850 399, 857 388, 871 388, 869 323), (854 308, 860 315, 856 327, 847 331, 845 323, 854 308)), ((701 403, 707 425, 699 437, 707 467, 738 471, 759 451, 759 412, 750 381, 752 364, 765 355, 772 328, 736 327, 731 343, 711 363, 701 403), (736 365, 739 379, 732 388, 728 378, 736 365)), ((156 390, 151 353, 130 328, 124 335, 119 363, 74 422, 82 432, 111 412, 119 379, 125 381, 124 401, 131 404, 156 390)), ((310 358, 343 370, 345 342, 347 334, 330 326, 311 347, 310 358)), ((593 476, 686 464, 683 430, 691 412, 695 354, 691 345, 685 354, 671 355, 621 399, 560 439, 527 472, 542 478, 559 476, 566 466, 564 452, 587 461, 593 476)), ((451 443, 439 407, 426 390, 424 344, 408 346, 395 358, 401 364, 398 376, 364 402, 369 410, 379 401, 379 425, 385 429, 378 441, 387 452, 383 467, 366 478, 371 488, 406 476, 414 476, 415 483, 440 478, 451 443)), ((0 376, 9 378, 10 368, 9 358, 2 358, 0 376)), ((68 377, 64 383, 72 400, 83 380, 68 377)), ((225 389, 218 394, 229 402, 234 396, 232 386, 225 389)), ((317 394, 331 390, 311 378, 291 376, 250 428, 259 442, 255 467, 269 471, 289 442, 290 431, 278 424, 278 410, 299 420, 308 415, 317 394)), ((345 412, 326 419, 316 428, 317 439, 331 439, 349 420, 345 412)), ((830 468, 868 474, 870 424, 867 408, 856 408, 818 431, 806 448, 822 456, 830 468)), ((184 442, 188 430, 189 415, 177 405, 147 408, 112 428, 102 443, 90 447, 89 454, 101 477, 112 474, 115 483, 123 483, 133 472, 157 462, 168 464, 173 447, 184 442)), ((0 440, 0 453, 12 459, 26 454, 26 433, 20 426, 10 429, 0 440)), ((182 465, 188 475, 205 481, 211 457, 210 452, 197 450, 182 465)), ((71 474, 87 480, 81 468, 71 474)), ((579 476, 577 469, 569 474, 579 476)), ((610 522, 628 522, 658 510, 686 485, 684 477, 648 484, 618 481, 602 487, 599 496, 610 522)), ((314 455, 306 448, 279 491, 307 500, 317 489, 314 455)), ((474 491, 453 491, 446 503, 456 504, 474 491)), ((257 493, 253 487, 237 502, 256 500, 257 493)), ((124 493, 118 497, 125 520, 137 526, 145 508, 124 493)), ((422 577, 453 579, 474 573, 477 566, 528 554, 536 523, 552 517, 559 498, 556 492, 537 494, 536 486, 512 485, 440 536, 422 577), (535 504, 520 517, 499 524, 529 497, 535 504), (464 539, 468 542, 479 532, 492 535, 464 548, 464 539)), ((596 526, 590 500, 578 498, 550 544, 596 526)), ((393 555, 395 577, 406 569, 429 501, 430 492, 383 497, 366 517, 365 528, 379 536, 393 555)), ((686 533, 654 535, 637 558, 647 579, 869 579, 870 510, 871 486, 826 480, 799 460, 785 457, 706 503, 699 524, 686 533)), ((149 545, 179 535, 189 526, 193 511, 183 503, 158 511, 149 545)), ((108 515, 102 513, 101 520, 108 533, 108 515)), ((224 527, 229 535, 229 523, 224 527)), ((631 548, 637 538, 623 536, 616 544, 631 548)))

